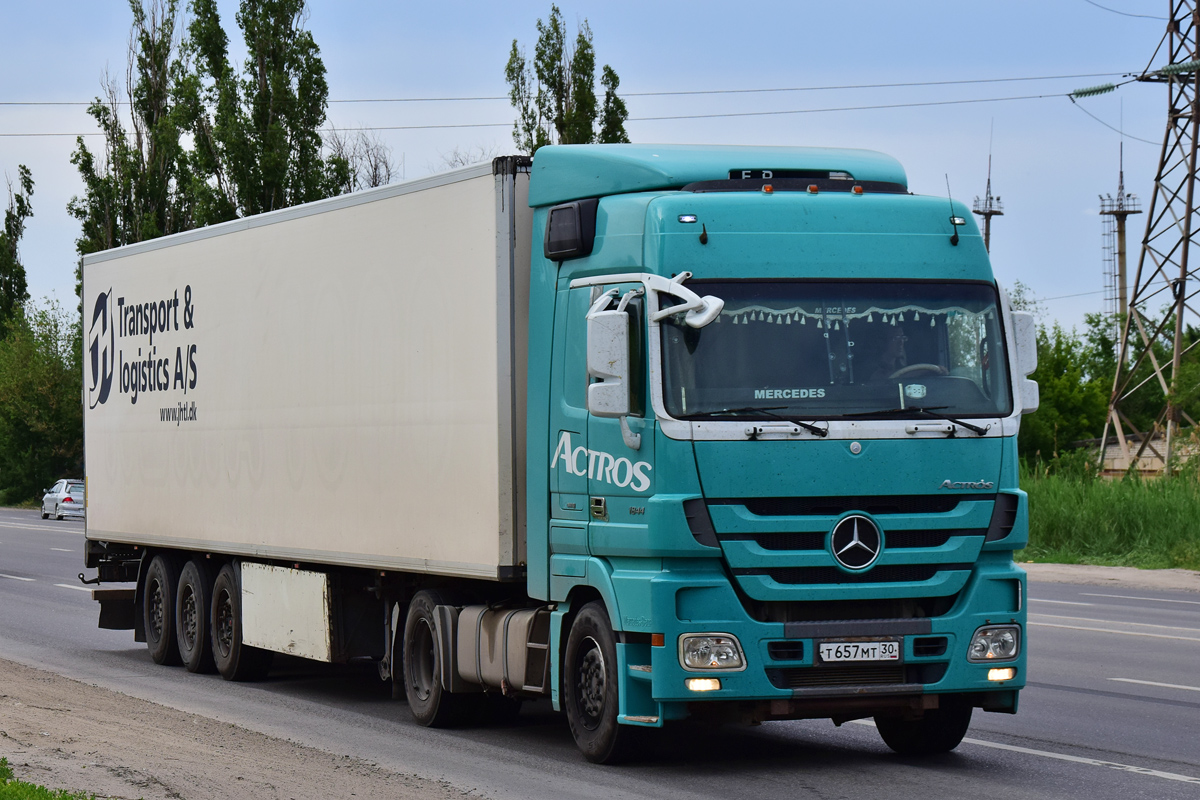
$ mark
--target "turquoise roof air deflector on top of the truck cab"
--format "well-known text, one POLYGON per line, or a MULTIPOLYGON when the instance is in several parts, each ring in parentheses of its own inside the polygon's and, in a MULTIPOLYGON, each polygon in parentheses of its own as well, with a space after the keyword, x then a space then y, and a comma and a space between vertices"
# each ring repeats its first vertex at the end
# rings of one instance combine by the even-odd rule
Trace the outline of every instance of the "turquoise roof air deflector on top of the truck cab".
POLYGON ((900 162, 874 150, 698 145, 551 145, 533 160, 529 205, 586 197, 683 188, 763 170, 845 173, 859 181, 907 187, 900 162))

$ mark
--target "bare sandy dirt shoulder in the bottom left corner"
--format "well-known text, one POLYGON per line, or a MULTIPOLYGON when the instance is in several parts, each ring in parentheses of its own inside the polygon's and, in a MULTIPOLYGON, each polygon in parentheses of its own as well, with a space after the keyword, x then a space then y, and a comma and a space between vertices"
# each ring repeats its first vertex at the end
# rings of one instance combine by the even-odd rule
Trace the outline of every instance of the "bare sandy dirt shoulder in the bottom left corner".
POLYGON ((16 777, 98 798, 462 798, 384 770, 0 660, 0 757, 16 777))

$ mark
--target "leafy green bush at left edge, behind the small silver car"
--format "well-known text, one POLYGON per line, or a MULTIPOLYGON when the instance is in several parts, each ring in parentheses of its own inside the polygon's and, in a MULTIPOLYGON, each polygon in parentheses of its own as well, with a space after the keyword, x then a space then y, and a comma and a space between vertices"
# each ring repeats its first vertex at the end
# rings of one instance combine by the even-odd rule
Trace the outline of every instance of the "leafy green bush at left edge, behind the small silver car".
POLYGON ((83 474, 79 320, 55 302, 25 303, 0 339, 0 503, 41 495, 83 474))

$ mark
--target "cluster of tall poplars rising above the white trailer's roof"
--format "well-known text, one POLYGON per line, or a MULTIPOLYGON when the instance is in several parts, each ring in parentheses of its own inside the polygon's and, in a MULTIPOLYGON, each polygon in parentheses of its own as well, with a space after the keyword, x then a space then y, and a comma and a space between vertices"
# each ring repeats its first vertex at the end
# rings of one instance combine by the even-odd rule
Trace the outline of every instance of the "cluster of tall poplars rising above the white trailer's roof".
POLYGON ((179 0, 130 0, 124 85, 106 78, 88 109, 104 143, 94 152, 79 138, 71 158, 80 255, 391 179, 378 143, 325 155, 329 88, 304 0, 242 0, 240 70, 216 1, 190 8, 185 30, 179 0))

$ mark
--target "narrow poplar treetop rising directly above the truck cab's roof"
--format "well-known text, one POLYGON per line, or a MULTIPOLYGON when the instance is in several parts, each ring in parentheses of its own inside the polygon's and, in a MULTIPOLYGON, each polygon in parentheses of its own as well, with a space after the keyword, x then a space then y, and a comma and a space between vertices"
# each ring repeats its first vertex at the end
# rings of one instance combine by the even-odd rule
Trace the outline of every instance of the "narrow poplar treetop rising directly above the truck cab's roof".
POLYGON ((524 48, 512 40, 504 79, 517 113, 512 140, 522 151, 533 154, 547 144, 629 142, 625 133, 629 112, 617 95, 620 79, 611 66, 604 66, 601 108, 595 92, 595 70, 588 20, 580 23, 571 43, 558 6, 550 7, 545 22, 538 20, 532 65, 524 48))

